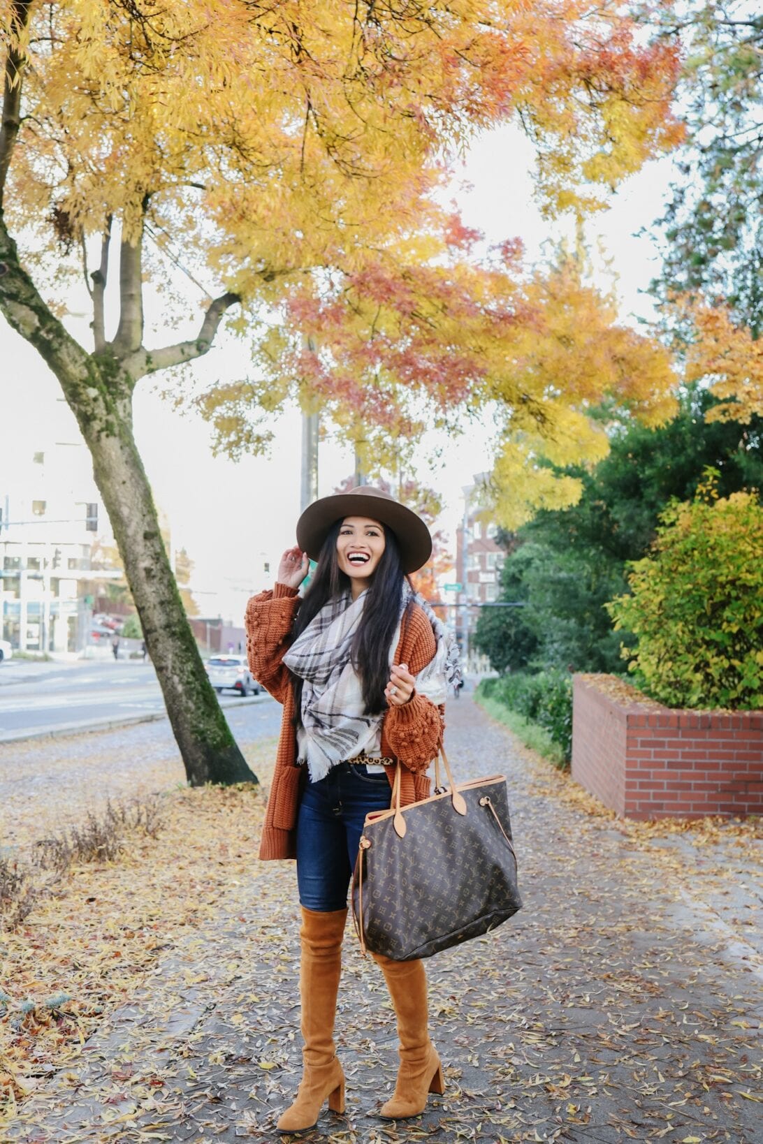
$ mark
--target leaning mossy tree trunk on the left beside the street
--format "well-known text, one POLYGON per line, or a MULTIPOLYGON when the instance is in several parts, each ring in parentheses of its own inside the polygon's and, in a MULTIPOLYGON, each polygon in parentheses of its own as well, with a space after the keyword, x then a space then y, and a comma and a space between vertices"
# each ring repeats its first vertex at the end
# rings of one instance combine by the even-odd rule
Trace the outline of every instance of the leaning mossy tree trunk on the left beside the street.
MULTIPOLYGON (((216 305, 213 317, 217 320, 225 302, 230 304, 228 296, 213 303, 216 305)), ((1 209, 0 310, 55 373, 90 450, 95 480, 109 513, 189 781, 192 786, 256 782, 204 669, 133 438, 132 395, 137 366, 142 364, 142 372, 148 372, 144 351, 133 353, 133 370, 116 357, 111 347, 101 353, 87 353, 51 313, 21 267, 1 209)), ((206 320, 212 319, 207 316, 206 320)), ((173 353, 169 349, 164 351, 161 364, 197 356, 199 344, 197 340, 191 348, 181 343, 172 348, 173 353)))

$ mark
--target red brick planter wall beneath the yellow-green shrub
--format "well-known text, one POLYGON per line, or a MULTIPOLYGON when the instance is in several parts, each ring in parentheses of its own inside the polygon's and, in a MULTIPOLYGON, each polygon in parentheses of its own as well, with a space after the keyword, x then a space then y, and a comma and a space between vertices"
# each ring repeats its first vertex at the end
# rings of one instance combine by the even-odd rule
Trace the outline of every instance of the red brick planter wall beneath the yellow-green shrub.
POLYGON ((572 777, 628 818, 763 815, 763 712, 675 710, 575 675, 572 777))

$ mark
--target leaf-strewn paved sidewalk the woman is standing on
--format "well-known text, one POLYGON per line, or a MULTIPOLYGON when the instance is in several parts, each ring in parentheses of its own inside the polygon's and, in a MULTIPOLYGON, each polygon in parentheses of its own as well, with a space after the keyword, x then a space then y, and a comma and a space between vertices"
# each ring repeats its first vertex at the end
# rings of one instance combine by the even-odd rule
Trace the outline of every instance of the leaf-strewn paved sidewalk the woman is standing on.
MULTIPOLYGON (((394 1085, 396 1038, 381 976, 348 928, 348 1112, 323 1113, 303 1138, 763 1141, 763 959, 738 916, 760 908, 760 871, 744 872, 724 917, 723 891, 705 900, 701 880, 684 876, 690 841, 638 848, 555 796, 545 764, 468 697, 450 706, 446 741, 456 777, 508 776, 525 908, 429 961, 447 1091, 399 1125, 373 1114, 394 1085)), ((279 1139, 299 1080, 297 959, 293 866, 255 865, 246 907, 174 948, 8 1139, 279 1139)))

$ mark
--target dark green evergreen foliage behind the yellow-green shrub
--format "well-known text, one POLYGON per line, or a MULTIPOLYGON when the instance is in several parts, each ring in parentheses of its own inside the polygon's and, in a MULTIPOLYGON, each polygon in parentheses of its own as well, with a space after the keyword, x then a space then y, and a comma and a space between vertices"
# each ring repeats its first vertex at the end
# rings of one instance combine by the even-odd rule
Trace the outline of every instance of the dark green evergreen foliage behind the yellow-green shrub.
POLYGON ((646 554, 666 506, 692 500, 708 467, 718 470, 720 495, 763 488, 763 419, 708 422, 715 404, 691 387, 662 428, 625 422, 595 469, 564 470, 583 483, 578 505, 499 534, 514 549, 500 598, 526 606, 480 612, 476 642, 496 670, 623 669, 619 646, 627 635, 613 631, 604 605, 627 590, 626 562, 646 554))

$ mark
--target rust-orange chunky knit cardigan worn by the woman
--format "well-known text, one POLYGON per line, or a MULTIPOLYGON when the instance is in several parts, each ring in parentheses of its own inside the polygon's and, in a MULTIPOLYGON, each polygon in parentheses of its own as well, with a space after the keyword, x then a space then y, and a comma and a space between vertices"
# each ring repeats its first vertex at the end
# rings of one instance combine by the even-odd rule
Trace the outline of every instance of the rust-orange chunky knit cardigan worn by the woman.
MULTIPOLYGON (((277 583, 272 591, 261 591, 246 605, 246 650, 254 677, 284 705, 276 769, 260 842, 261 858, 294 858, 296 855, 296 813, 300 794, 307 782, 307 765, 296 764, 294 689, 288 668, 281 662, 289 644, 294 614, 300 597, 294 588, 277 583)), ((404 623, 395 651, 395 664, 407 664, 413 675, 431 660, 435 634, 428 617, 414 607, 404 623)), ((382 722, 381 753, 403 763, 400 802, 408 805, 427 799, 430 780, 423 773, 437 754, 443 736, 444 708, 414 692, 402 707, 390 707, 382 722)), ((387 766, 395 779, 395 765, 387 766)))

